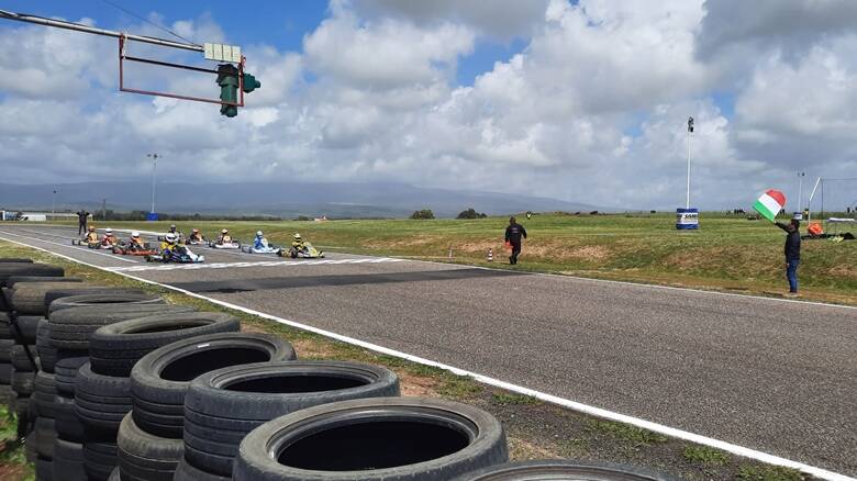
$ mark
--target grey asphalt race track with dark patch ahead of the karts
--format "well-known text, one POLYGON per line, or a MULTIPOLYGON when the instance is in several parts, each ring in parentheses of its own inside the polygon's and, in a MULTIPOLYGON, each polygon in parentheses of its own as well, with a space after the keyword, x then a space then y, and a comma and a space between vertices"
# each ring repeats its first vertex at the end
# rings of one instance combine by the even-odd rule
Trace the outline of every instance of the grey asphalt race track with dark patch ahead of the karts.
MULTIPOLYGON (((0 237, 810 466, 857 476, 857 309, 435 262, 200 248, 149 265, 0 237)), ((856 294, 857 295, 857 294, 856 294)))

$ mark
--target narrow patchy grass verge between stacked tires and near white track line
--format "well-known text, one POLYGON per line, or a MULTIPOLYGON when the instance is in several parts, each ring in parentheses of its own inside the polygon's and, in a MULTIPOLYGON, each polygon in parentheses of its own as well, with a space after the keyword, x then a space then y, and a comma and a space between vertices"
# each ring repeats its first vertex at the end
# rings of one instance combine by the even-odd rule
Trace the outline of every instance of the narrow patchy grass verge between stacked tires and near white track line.
MULTIPOLYGON (((468 377, 381 355, 40 250, 0 242, 2 257, 31 257, 64 267, 69 277, 105 286, 136 287, 163 295, 171 303, 227 312, 241 318, 244 331, 270 333, 288 339, 302 359, 350 360, 385 366, 399 374, 403 395, 466 402, 496 415, 507 429, 510 455, 514 460, 571 458, 609 461, 641 466, 688 480, 810 479, 794 470, 763 465, 635 426, 596 418, 534 398, 488 387, 468 377)), ((3 432, 14 428, 13 422, 5 417, 0 422, 4 422, 1 427, 3 432)), ((32 474, 32 467, 24 463, 22 448, 13 444, 4 446, 0 451, 0 479, 31 479, 27 476, 32 474), (8 476, 4 474, 7 472, 8 476)))

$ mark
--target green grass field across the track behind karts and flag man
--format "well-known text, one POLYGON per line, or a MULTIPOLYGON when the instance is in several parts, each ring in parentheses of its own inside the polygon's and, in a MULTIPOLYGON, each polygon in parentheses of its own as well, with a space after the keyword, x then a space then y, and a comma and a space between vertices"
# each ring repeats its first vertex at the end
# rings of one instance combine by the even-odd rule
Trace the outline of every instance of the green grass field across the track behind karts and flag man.
MULTIPOLYGON (((249 240, 256 230, 274 243, 294 232, 326 250, 407 256, 505 269, 555 272, 644 283, 781 295, 784 233, 767 221, 701 215, 697 232, 678 232, 670 214, 521 216, 530 237, 517 266, 503 247, 505 217, 459 220, 379 220, 316 222, 179 222, 208 236, 229 227, 249 240), (486 261, 489 248, 494 261, 486 261)), ((107 223, 96 222, 99 227, 107 223)), ((110 226, 163 231, 169 223, 110 223, 110 226)), ((857 242, 804 240, 799 269, 805 299, 857 304, 857 242)))

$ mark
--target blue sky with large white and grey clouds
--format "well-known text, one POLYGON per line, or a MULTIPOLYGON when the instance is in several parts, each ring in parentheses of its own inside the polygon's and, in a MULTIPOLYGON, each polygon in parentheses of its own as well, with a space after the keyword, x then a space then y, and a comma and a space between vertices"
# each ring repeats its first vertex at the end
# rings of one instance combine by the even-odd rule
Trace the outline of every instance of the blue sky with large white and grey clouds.
MULTIPOLYGON (((691 204, 710 210, 746 208, 768 188, 797 209, 799 171, 804 204, 816 177, 857 177, 853 0, 0 9, 241 45, 261 81, 227 119, 215 104, 119 92, 115 38, 0 20, 0 182, 147 182, 157 153, 164 181, 393 181, 675 209, 690 152, 691 204)), ((219 94, 204 74, 129 66, 126 81, 219 94)), ((857 203, 857 183, 838 189, 827 195, 857 203)))

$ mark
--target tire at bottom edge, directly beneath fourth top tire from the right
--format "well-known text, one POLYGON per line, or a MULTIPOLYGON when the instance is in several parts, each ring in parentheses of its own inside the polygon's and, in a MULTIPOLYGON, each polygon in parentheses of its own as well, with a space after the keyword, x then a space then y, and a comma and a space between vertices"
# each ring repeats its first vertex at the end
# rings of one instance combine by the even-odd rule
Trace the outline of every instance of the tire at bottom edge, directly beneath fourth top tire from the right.
POLYGON ((122 476, 147 481, 172 481, 185 454, 180 439, 167 439, 144 432, 134 424, 131 414, 122 420, 116 444, 122 476))

